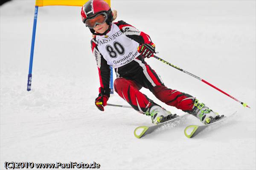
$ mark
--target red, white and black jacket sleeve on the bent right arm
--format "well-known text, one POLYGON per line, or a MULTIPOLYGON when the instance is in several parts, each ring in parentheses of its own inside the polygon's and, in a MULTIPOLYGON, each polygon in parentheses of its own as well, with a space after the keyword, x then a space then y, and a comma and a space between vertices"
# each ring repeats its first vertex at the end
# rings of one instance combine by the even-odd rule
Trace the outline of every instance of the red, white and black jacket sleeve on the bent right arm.
POLYGON ((146 33, 139 31, 137 28, 135 28, 134 26, 131 26, 128 23, 125 23, 125 21, 120 20, 116 23, 117 26, 119 26, 119 29, 129 38, 131 38, 132 40, 136 41, 139 44, 143 44, 143 43, 151 43, 152 40, 149 37, 149 35, 147 35, 146 33))

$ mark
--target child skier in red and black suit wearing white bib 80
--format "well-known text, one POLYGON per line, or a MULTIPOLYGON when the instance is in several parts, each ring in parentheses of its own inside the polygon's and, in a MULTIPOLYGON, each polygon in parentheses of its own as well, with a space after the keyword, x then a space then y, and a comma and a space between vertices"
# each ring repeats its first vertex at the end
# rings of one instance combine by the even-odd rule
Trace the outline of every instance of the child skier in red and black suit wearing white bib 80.
POLYGON ((144 61, 155 53, 155 45, 149 35, 122 20, 112 23, 113 13, 104 0, 89 0, 81 9, 81 17, 94 35, 91 48, 99 70, 99 96, 95 99, 99 110, 104 111, 110 96, 112 66, 117 77, 115 91, 135 110, 150 115, 152 123, 162 123, 172 119, 173 115, 140 92, 142 87, 149 89, 160 101, 194 115, 204 124, 221 118, 191 95, 163 84, 144 61))

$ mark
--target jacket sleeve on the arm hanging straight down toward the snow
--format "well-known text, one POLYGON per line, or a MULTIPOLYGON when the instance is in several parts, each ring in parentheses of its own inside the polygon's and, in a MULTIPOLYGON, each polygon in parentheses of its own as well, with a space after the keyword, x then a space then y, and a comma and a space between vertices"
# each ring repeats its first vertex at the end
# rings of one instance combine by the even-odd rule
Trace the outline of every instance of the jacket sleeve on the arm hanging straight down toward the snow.
POLYGON ((110 96, 110 66, 107 64, 107 61, 103 58, 102 54, 99 52, 95 38, 91 40, 91 48, 93 51, 93 56, 96 59, 96 63, 99 71, 99 93, 102 95, 110 96))

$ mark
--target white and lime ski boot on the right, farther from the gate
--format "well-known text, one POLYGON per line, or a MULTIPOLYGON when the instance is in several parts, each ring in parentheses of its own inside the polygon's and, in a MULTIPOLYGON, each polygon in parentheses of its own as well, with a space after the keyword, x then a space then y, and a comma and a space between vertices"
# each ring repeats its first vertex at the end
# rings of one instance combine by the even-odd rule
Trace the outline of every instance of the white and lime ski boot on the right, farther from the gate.
POLYGON ((199 103, 197 99, 195 99, 194 107, 190 113, 199 118, 203 124, 211 124, 224 118, 224 115, 218 115, 217 112, 213 112, 205 104, 199 103))

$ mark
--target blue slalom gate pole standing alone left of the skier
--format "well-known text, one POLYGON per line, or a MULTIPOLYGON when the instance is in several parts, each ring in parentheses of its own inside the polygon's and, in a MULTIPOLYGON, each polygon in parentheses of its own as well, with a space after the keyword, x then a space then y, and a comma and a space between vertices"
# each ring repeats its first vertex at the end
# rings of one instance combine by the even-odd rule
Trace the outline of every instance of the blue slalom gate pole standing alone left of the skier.
POLYGON ((32 83, 32 65, 33 65, 33 57, 34 57, 35 30, 36 30, 36 23, 37 23, 37 15, 38 15, 38 6, 35 6, 34 25, 33 25, 32 42, 31 42, 31 50, 30 50, 29 75, 28 75, 27 91, 31 90, 31 83, 32 83))

